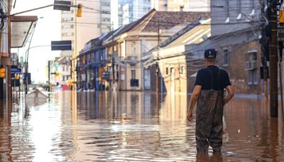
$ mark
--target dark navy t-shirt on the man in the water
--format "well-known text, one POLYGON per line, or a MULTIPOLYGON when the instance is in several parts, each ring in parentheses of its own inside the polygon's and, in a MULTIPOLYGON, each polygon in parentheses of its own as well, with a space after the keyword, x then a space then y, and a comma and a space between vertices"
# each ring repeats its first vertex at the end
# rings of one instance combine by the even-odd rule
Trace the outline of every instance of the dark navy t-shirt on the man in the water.
MULTIPOLYGON (((213 90, 223 90, 226 86, 231 85, 229 80, 229 75, 225 70, 220 69, 219 80, 218 80, 218 70, 217 66, 207 66, 213 74, 213 90)), ((212 75, 207 68, 202 68, 198 70, 195 85, 201 85, 202 90, 212 89, 212 75)))

